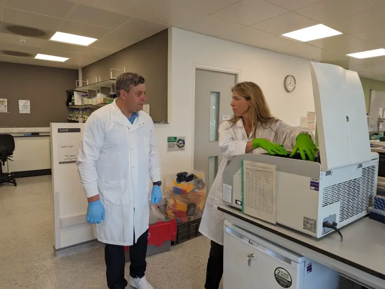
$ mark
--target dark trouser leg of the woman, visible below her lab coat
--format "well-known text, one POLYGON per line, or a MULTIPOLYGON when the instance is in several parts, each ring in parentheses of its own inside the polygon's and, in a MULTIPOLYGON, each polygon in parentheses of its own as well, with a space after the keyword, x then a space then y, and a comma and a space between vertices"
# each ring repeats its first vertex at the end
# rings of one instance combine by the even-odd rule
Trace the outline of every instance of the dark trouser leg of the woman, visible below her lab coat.
POLYGON ((211 241, 206 269, 206 289, 218 289, 223 274, 223 246, 211 241))

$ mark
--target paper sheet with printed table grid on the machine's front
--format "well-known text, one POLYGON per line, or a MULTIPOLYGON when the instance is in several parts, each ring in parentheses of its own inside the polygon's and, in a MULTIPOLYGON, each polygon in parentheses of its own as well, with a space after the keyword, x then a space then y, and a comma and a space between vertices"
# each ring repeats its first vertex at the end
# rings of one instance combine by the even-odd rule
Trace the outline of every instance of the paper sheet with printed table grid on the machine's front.
POLYGON ((243 161, 242 175, 243 212, 276 224, 276 166, 243 161))

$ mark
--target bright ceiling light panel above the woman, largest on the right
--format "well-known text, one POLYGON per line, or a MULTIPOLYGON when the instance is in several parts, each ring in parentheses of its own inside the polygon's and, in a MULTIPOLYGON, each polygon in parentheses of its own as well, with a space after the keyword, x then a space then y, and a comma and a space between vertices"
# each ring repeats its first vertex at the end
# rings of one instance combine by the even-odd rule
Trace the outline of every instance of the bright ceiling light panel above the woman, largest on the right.
POLYGON ((293 32, 282 34, 282 36, 296 39, 302 42, 307 42, 311 40, 321 39, 325 37, 340 35, 342 32, 336 31, 330 27, 327 27, 322 24, 315 26, 310 26, 293 32))

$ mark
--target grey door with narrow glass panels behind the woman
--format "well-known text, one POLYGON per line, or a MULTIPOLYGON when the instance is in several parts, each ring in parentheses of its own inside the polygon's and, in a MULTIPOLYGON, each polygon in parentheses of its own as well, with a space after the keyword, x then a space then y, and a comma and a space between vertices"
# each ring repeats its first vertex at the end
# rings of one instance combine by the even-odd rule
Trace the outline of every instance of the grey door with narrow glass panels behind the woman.
POLYGON ((218 128, 223 119, 232 116, 231 88, 236 80, 235 74, 195 71, 194 169, 205 173, 208 190, 222 160, 218 128))

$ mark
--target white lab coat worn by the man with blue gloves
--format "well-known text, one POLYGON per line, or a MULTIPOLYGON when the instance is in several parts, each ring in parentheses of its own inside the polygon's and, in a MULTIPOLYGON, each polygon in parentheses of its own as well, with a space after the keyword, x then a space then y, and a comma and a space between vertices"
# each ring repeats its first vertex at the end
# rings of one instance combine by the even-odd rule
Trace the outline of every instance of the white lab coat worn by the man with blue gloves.
POLYGON ((139 111, 131 124, 112 104, 88 118, 78 156, 87 198, 100 195, 105 221, 97 224, 100 242, 131 246, 149 228, 149 187, 160 181, 154 123, 139 111))

